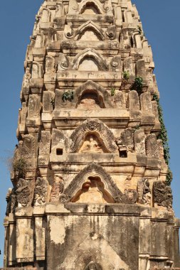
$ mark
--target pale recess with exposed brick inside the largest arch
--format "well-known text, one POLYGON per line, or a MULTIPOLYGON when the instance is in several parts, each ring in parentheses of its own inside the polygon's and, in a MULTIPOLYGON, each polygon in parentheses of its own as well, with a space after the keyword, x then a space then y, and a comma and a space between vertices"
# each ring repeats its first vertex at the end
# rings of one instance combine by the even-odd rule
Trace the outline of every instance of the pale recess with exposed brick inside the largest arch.
POLYGON ((72 202, 108 203, 114 202, 105 190, 105 186, 99 177, 88 177, 82 188, 73 198, 72 202))

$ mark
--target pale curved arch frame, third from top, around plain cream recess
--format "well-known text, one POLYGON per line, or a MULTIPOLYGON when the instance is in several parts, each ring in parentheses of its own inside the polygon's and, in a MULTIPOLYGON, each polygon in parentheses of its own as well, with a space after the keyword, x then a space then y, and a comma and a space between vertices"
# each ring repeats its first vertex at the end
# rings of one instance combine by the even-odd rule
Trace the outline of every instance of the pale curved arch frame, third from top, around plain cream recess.
POLYGON ((94 58, 95 62, 98 65, 98 70, 108 70, 108 66, 104 58, 102 58, 100 53, 97 53, 97 51, 92 48, 87 48, 75 56, 73 60, 73 70, 78 70, 80 63, 85 58, 94 58))

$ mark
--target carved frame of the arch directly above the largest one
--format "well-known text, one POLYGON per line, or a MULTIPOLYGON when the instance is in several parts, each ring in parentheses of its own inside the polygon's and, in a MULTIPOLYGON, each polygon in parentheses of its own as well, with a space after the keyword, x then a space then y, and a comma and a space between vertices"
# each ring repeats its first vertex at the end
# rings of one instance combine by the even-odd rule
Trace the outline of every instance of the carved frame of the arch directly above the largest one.
POLYGON ((71 134, 71 144, 70 144, 70 152, 75 153, 78 152, 80 147, 85 141, 85 138, 88 134, 92 134, 92 136, 98 137, 98 139, 102 140, 102 144, 105 146, 105 151, 108 153, 115 152, 117 150, 117 146, 115 145, 115 138, 112 134, 112 131, 108 129, 108 127, 102 123, 100 120, 96 119, 87 119, 80 124, 73 134, 71 134))

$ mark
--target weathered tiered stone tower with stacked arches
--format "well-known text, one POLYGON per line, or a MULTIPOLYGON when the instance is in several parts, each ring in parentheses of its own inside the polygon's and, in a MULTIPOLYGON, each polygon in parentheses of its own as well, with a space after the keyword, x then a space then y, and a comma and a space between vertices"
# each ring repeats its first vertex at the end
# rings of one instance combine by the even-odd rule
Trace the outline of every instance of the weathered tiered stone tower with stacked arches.
POLYGON ((159 92, 136 7, 44 1, 24 66, 4 267, 179 267, 159 92))

